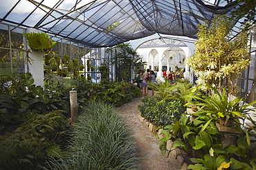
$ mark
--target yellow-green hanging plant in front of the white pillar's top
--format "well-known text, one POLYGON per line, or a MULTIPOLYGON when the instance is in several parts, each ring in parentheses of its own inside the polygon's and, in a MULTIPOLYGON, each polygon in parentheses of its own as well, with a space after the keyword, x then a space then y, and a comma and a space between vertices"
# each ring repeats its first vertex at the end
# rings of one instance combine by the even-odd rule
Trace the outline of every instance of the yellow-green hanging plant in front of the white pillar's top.
POLYGON ((27 40, 31 50, 48 53, 51 52, 56 41, 49 38, 49 35, 44 32, 24 32, 24 37, 27 40))

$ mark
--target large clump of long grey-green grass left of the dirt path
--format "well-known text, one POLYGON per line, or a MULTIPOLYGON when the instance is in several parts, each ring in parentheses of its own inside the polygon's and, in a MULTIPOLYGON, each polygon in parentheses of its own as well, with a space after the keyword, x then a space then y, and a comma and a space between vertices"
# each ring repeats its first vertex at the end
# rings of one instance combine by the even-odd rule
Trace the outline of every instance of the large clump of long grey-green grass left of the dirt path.
POLYGON ((51 169, 138 169, 138 154, 113 105, 92 102, 80 114, 68 158, 52 158, 51 169))

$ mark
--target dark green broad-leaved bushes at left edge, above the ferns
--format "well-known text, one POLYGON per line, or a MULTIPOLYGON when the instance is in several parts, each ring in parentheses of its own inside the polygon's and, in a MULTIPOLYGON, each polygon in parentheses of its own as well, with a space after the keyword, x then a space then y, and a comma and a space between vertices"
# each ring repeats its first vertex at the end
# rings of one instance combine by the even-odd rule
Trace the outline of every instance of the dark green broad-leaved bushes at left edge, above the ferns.
POLYGON ((0 131, 27 116, 63 109, 64 100, 50 96, 42 87, 33 85, 30 73, 19 76, 0 76, 0 131))

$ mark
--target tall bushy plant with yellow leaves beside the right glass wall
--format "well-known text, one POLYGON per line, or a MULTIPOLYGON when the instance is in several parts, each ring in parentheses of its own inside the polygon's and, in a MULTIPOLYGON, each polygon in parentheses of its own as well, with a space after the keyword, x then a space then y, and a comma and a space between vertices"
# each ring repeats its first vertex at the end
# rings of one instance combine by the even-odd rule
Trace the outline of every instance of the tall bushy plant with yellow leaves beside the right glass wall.
POLYGON ((235 92, 232 81, 250 63, 248 33, 241 31, 230 40, 230 28, 232 23, 225 15, 217 15, 210 24, 199 25, 195 53, 187 61, 198 77, 198 84, 212 85, 219 91, 226 89, 228 94, 235 92))

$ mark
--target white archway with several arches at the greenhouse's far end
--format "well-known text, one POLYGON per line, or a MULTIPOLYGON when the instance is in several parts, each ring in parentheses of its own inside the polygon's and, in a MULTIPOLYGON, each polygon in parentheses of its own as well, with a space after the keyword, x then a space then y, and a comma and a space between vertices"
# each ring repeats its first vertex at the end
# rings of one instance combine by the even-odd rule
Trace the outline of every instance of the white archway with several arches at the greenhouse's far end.
MULTIPOLYGON (((152 36, 154 37, 154 36, 152 36)), ((147 37, 149 38, 149 37, 147 37)), ((146 39, 140 39, 141 42, 146 39)), ((188 42, 187 42, 188 43, 188 42)), ((133 43, 134 44, 134 43, 133 43)), ((131 44, 132 45, 132 44, 131 44)), ((151 66, 152 70, 154 69, 156 59, 158 58, 158 74, 162 75, 162 68, 163 66, 167 67, 167 71, 174 70, 175 66, 185 69, 184 76, 185 78, 190 78, 190 69, 188 65, 185 64, 185 59, 190 57, 192 54, 191 49, 193 46, 194 50, 194 43, 193 45, 186 45, 183 41, 179 41, 176 39, 167 39, 167 38, 154 38, 149 39, 140 43, 136 47, 136 51, 138 54, 143 56, 144 61, 147 62, 147 68, 151 66), (157 54, 158 54, 158 57, 157 54), (145 55, 145 53, 147 53, 145 55)), ((132 47, 135 47, 132 45, 132 47)))

